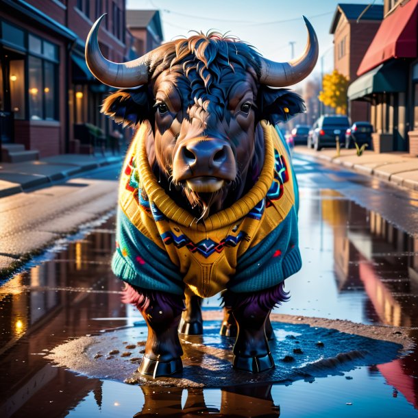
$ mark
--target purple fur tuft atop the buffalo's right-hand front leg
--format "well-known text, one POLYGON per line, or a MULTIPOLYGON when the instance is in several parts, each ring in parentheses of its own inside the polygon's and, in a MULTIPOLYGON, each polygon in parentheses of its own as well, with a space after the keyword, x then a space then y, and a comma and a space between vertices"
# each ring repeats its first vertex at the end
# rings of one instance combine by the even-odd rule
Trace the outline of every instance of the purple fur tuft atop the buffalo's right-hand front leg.
POLYGON ((226 307, 241 308, 241 306, 257 306, 261 310, 271 310, 290 299, 289 292, 284 291, 284 282, 257 293, 233 293, 226 291, 223 294, 223 302, 226 307))

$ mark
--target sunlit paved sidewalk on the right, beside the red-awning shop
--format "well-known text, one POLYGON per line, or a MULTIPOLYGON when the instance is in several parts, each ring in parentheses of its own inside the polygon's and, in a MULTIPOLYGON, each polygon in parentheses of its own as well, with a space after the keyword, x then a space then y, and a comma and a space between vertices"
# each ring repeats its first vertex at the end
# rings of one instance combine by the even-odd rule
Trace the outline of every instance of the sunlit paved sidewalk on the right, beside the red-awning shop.
POLYGON ((335 148, 315 151, 305 146, 297 146, 294 152, 340 164, 358 173, 373 175, 397 186, 418 190, 418 158, 403 151, 391 153, 365 151, 362 156, 358 157, 356 149, 343 148, 340 156, 337 157, 335 148))

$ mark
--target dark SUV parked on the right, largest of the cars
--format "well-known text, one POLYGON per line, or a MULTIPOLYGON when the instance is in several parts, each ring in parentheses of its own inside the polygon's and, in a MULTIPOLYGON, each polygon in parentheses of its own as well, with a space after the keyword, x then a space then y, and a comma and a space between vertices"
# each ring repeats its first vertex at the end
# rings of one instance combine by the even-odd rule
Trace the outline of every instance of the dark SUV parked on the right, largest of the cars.
POLYGON ((338 138, 345 145, 345 132, 350 127, 349 119, 343 115, 321 116, 312 127, 312 144, 319 151, 323 147, 335 147, 338 138))

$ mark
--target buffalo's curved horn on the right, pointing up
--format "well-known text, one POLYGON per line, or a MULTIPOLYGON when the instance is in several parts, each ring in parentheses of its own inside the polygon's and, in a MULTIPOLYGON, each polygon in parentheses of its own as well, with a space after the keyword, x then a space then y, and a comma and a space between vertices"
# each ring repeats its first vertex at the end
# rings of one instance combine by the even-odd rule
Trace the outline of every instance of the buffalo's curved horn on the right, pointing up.
POLYGON ((301 57, 289 62, 274 62, 261 59, 260 82, 271 87, 291 86, 302 81, 314 69, 318 60, 318 38, 315 30, 303 16, 308 29, 308 43, 301 57))

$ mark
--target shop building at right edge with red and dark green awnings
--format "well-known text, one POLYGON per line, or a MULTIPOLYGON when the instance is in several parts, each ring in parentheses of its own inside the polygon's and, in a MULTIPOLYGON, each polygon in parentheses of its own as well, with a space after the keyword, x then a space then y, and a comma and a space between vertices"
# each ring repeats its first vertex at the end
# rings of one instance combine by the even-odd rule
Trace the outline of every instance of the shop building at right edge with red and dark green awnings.
POLYGON ((348 88, 368 101, 377 152, 418 156, 418 0, 384 0, 384 19, 348 88))

